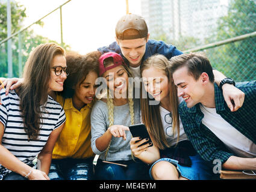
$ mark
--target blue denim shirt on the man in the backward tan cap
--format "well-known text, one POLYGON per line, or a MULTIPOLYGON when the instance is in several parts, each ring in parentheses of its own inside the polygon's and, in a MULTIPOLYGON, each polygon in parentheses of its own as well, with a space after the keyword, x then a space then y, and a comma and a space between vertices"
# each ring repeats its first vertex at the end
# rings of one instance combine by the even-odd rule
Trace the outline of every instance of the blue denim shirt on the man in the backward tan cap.
MULTIPOLYGON (((116 43, 116 41, 111 43, 108 47, 106 46, 100 47, 98 48, 98 50, 102 53, 116 52, 120 54, 124 59, 125 63, 129 65, 128 60, 123 56, 121 49, 119 45, 116 43)), ((142 62, 145 61, 150 56, 155 55, 156 53, 166 56, 167 59, 170 59, 176 55, 183 54, 183 52, 176 49, 176 47, 171 44, 166 44, 163 41, 148 40, 148 43, 146 43, 146 51, 142 58, 142 62)))

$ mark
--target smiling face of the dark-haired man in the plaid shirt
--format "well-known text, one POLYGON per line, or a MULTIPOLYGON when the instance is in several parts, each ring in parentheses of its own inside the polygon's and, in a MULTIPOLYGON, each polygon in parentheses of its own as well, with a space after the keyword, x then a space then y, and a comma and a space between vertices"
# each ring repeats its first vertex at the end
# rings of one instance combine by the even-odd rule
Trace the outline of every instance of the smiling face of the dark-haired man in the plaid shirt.
POLYGON ((188 73, 187 67, 181 67, 173 75, 173 81, 178 88, 178 97, 183 97, 187 107, 201 103, 205 94, 202 76, 198 80, 188 73))

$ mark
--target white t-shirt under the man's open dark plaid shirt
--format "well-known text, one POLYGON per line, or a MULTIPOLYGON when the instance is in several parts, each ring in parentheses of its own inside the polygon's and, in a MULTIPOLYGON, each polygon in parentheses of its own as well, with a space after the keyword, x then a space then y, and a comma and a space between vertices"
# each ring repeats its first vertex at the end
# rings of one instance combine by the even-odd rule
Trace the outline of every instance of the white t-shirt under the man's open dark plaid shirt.
POLYGON ((202 124, 208 127, 230 151, 239 157, 256 157, 256 145, 217 114, 216 108, 200 104, 200 109, 204 113, 202 124))

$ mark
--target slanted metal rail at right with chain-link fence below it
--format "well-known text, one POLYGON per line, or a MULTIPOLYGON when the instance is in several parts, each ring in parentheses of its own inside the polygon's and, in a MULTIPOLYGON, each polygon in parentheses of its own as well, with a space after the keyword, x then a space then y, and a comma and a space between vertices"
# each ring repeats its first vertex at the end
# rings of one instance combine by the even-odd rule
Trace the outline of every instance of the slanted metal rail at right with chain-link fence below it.
POLYGON ((183 53, 203 51, 210 59, 211 65, 225 76, 233 78, 236 82, 250 81, 256 80, 255 42, 256 31, 184 50, 183 53), (240 55, 237 55, 238 52, 240 55))

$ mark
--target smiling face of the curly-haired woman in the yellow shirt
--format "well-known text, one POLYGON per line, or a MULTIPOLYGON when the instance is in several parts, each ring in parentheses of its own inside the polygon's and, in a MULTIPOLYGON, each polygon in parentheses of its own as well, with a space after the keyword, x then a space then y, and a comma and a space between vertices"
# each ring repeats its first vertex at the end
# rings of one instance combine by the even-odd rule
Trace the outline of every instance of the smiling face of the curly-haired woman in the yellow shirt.
POLYGON ((95 98, 95 91, 97 86, 95 85, 98 74, 94 71, 87 74, 86 79, 83 82, 77 83, 75 86, 75 94, 72 97, 73 104, 76 109, 81 109, 85 104, 92 103, 95 98))

